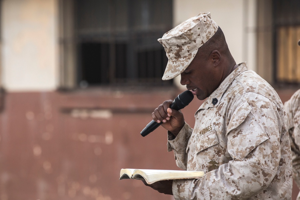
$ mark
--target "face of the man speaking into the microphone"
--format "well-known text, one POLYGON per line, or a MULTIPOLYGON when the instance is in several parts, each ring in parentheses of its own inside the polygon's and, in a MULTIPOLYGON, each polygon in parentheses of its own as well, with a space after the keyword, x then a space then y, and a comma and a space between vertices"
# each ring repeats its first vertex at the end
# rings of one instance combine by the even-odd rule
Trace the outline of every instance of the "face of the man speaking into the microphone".
POLYGON ((181 73, 180 83, 186 85, 199 100, 204 100, 220 85, 221 73, 218 70, 211 55, 204 57, 198 52, 181 73))

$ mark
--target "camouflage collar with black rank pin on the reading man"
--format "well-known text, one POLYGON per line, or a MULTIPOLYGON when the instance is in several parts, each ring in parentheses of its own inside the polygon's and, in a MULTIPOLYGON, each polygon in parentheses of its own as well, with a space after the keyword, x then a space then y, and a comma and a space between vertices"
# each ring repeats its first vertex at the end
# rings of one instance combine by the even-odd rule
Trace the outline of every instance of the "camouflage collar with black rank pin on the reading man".
MULTIPOLYGON (((199 109, 208 109, 210 107, 217 107, 220 103, 220 100, 228 88, 229 84, 242 72, 248 70, 247 62, 238 64, 239 66, 233 70, 229 76, 227 76, 221 85, 202 103, 199 109)), ((198 109, 198 110, 199 110, 198 109)))

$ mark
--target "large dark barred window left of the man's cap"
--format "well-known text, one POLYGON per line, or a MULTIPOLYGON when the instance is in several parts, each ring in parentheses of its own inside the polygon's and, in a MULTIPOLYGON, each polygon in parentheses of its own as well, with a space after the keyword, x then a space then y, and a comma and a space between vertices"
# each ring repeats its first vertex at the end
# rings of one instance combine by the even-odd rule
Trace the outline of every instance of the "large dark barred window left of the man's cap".
POLYGON ((171 85, 157 41, 172 28, 172 0, 74 1, 80 85, 171 85))

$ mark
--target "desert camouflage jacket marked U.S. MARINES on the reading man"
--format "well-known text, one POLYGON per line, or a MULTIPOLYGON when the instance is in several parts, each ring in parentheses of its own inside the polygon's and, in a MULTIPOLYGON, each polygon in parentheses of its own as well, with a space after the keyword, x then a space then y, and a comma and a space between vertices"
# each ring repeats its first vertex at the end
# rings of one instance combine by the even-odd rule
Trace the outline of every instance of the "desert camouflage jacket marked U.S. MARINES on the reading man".
POLYGON ((239 64, 185 124, 168 133, 177 166, 204 171, 173 181, 178 199, 291 199, 292 158, 287 118, 274 89, 239 64), (173 136, 174 137, 174 136, 173 136), (173 140, 172 140, 173 139, 173 140))

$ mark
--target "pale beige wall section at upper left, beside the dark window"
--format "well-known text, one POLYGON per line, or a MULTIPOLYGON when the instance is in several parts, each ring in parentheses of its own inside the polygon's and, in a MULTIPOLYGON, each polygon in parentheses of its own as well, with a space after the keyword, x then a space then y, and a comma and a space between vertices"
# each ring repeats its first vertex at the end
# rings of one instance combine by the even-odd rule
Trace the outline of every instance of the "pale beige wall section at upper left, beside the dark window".
POLYGON ((2 0, 1 79, 7 91, 49 91, 57 87, 56 3, 2 0))

